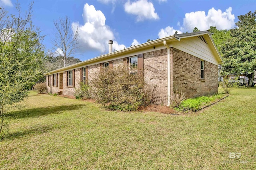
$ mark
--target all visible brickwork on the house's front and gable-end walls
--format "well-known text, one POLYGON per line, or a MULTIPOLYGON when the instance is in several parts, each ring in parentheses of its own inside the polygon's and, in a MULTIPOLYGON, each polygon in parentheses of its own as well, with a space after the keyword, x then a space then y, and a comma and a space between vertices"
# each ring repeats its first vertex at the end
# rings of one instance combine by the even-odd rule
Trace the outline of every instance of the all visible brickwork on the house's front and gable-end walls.
MULTIPOLYGON (((218 66, 204 61, 204 79, 200 74, 200 59, 184 53, 178 49, 170 48, 170 55, 173 59, 173 91, 181 91, 186 97, 194 98, 197 96, 209 95, 218 92, 218 66)), ((123 64, 124 59, 113 61, 113 66, 123 64)), ((161 49, 143 54, 144 78, 146 83, 156 87, 156 94, 153 102, 155 104, 167 105, 167 49, 161 49)), ((94 74, 100 71, 100 64, 88 66, 88 81, 92 80, 94 74)), ((60 92, 60 84, 63 84, 63 95, 74 95, 73 87, 66 87, 66 72, 63 72, 63 80, 58 74, 58 87, 53 87, 53 75, 48 77, 46 85, 48 92, 54 94, 60 92)), ((80 83, 80 68, 75 70, 75 87, 80 83)))

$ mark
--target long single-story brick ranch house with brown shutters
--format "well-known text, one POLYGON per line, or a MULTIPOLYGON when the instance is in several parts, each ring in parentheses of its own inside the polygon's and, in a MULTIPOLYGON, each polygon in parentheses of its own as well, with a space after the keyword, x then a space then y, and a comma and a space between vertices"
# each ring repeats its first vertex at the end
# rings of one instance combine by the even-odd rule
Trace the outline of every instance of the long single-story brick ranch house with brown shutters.
POLYGON ((220 53, 208 31, 175 34, 46 73, 48 92, 74 95, 82 80, 90 81, 103 66, 128 63, 144 70, 146 82, 156 86, 156 104, 169 105, 175 90, 194 98, 218 92, 220 53))

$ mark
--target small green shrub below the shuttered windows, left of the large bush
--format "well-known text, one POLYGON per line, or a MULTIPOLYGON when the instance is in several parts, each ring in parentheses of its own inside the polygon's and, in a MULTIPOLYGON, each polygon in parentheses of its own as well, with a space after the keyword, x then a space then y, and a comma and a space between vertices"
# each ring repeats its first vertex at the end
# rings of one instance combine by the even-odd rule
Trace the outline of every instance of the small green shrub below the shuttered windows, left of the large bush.
POLYGON ((80 82, 80 86, 78 88, 75 88, 74 96, 76 97, 76 99, 90 99, 90 86, 88 84, 85 84, 84 82, 80 82))

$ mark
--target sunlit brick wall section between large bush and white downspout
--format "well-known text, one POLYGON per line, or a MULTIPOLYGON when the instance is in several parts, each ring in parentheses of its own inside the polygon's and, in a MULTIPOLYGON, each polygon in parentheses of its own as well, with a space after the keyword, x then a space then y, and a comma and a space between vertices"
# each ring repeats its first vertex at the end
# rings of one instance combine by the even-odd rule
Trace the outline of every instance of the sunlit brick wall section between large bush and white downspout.
POLYGON ((167 105, 167 49, 143 54, 144 78, 156 86, 154 103, 167 105))

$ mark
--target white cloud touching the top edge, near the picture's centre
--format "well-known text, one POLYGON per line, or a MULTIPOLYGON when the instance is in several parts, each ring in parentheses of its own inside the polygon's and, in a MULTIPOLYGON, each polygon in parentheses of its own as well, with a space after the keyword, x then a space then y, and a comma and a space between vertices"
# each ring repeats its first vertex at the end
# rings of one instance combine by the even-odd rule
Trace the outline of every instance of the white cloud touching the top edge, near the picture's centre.
POLYGON ((158 20, 159 16, 155 12, 155 8, 152 2, 148 0, 138 0, 130 3, 130 0, 124 4, 124 11, 128 14, 136 15, 137 21, 143 20, 158 20))

